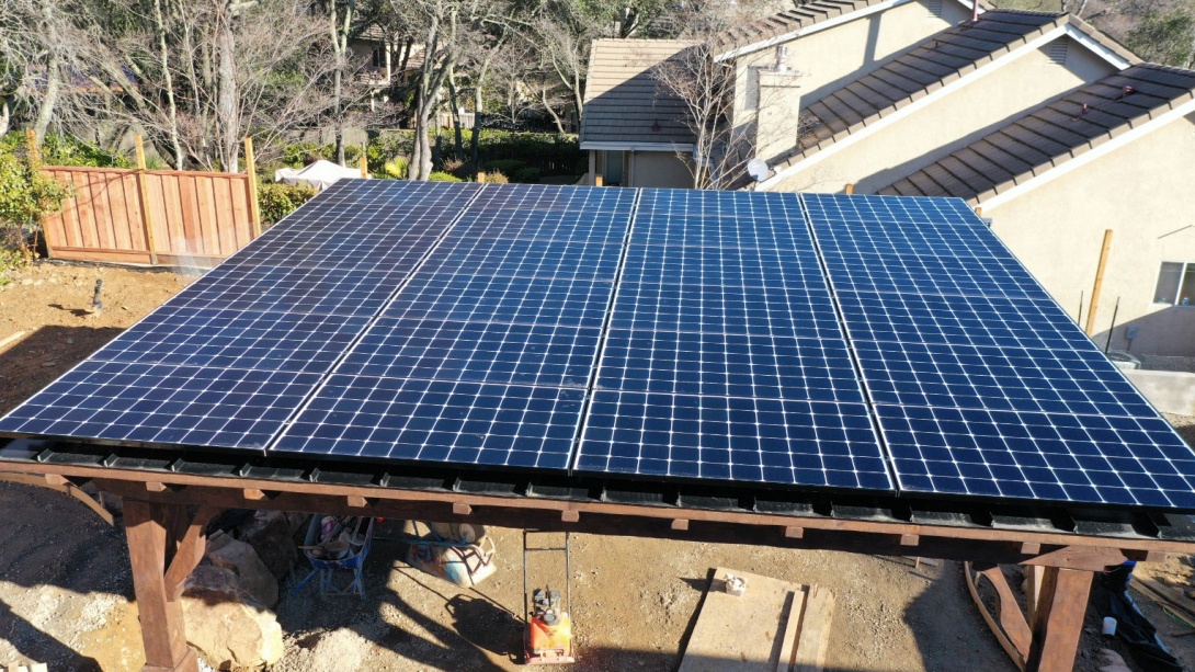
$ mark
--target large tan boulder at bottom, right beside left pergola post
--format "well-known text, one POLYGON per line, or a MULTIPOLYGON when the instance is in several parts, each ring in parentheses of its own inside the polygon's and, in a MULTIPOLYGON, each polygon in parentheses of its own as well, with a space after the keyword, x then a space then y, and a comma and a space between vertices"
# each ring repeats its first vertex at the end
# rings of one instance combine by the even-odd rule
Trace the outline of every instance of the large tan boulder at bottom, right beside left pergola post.
POLYGON ((203 564, 183 589, 186 641, 220 670, 257 670, 282 659, 282 627, 231 570, 203 564))

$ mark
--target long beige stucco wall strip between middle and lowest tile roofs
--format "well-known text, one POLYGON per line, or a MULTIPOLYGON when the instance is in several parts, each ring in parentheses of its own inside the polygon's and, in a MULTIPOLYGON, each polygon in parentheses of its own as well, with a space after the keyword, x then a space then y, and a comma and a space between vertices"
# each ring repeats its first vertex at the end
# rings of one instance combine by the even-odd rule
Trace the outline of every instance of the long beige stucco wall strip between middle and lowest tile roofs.
POLYGON ((913 111, 870 134, 853 136, 857 142, 831 145, 828 152, 813 154, 773 190, 838 193, 847 183, 860 194, 878 190, 1027 110, 1114 72, 1111 65, 1071 38, 1059 39, 1068 43, 1066 65, 1050 61, 1044 48, 1028 51, 924 108, 906 108, 913 111))

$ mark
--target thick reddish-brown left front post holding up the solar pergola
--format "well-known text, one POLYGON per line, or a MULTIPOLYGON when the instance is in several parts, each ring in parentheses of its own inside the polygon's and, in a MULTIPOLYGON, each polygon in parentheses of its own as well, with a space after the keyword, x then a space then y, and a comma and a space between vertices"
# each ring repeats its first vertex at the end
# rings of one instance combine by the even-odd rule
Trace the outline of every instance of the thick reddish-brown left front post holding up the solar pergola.
POLYGON ((167 523, 177 505, 124 500, 124 533, 133 564, 133 589, 141 617, 146 665, 141 672, 198 672, 195 652, 186 646, 183 607, 166 586, 166 550, 178 539, 167 523))

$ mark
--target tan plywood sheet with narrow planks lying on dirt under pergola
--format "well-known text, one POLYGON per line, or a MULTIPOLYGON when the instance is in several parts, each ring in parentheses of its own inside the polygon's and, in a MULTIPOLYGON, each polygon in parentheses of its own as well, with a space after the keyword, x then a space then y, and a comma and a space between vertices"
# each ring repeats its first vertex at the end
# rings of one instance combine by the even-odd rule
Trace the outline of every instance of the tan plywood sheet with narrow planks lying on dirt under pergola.
POLYGON ((820 652, 823 660, 832 600, 829 591, 719 567, 679 672, 786 672, 793 656, 807 649, 820 652), (728 573, 747 580, 746 594, 725 592, 728 573), (807 633, 816 641, 805 643, 807 633))

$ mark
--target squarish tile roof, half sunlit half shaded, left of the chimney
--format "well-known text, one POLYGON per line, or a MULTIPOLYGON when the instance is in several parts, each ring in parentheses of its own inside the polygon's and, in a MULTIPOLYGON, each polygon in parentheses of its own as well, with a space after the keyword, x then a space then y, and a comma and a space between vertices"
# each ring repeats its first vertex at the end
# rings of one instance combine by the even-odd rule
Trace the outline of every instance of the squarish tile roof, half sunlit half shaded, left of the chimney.
POLYGON ((651 68, 692 47, 682 39, 595 39, 589 55, 581 143, 692 145, 685 104, 651 68))

